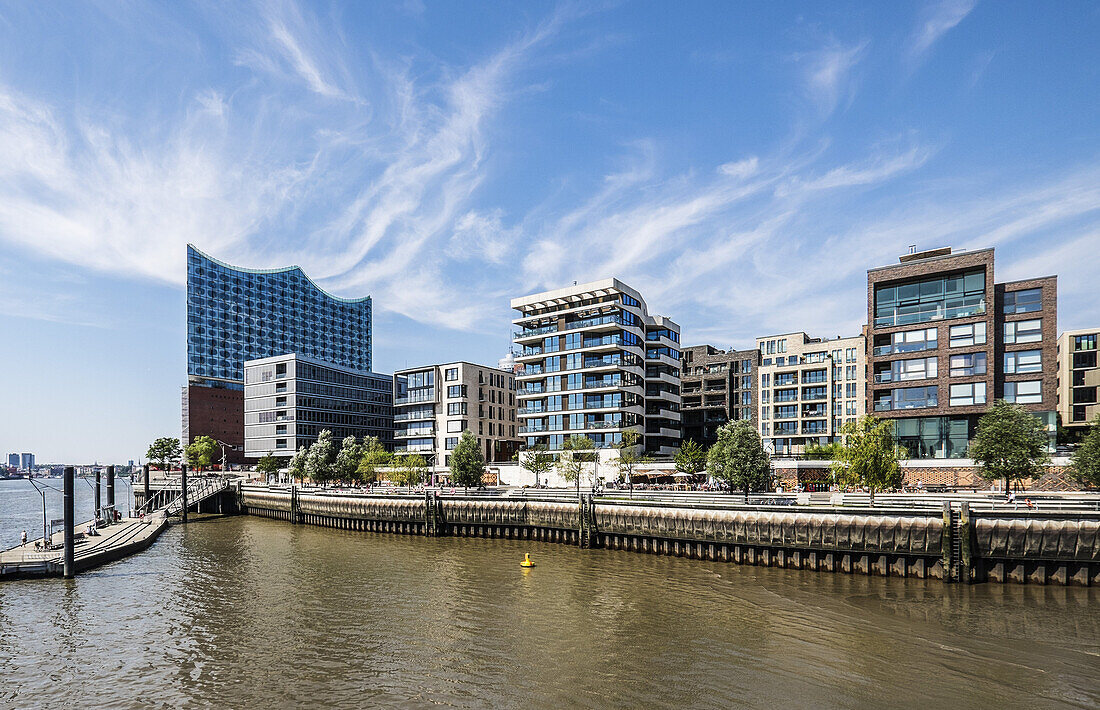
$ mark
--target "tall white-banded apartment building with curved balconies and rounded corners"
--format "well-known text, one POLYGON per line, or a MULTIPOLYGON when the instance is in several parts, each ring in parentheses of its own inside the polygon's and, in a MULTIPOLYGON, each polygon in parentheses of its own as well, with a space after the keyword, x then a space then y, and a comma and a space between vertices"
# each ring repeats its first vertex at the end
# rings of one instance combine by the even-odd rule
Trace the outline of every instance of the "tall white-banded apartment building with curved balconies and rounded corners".
POLYGON ((513 298, 520 434, 528 447, 561 450, 586 436, 597 448, 623 433, 645 450, 680 446, 680 326, 651 316, 641 294, 617 278, 513 298))

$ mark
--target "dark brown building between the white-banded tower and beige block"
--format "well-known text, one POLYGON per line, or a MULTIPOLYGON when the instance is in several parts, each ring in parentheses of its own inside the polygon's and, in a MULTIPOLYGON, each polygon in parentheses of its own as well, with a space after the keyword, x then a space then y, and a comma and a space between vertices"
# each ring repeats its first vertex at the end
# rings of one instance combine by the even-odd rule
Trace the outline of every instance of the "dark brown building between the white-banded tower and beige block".
POLYGON ((756 381, 759 350, 692 346, 680 350, 680 415, 683 439, 710 447, 718 427, 733 419, 757 426, 756 381))

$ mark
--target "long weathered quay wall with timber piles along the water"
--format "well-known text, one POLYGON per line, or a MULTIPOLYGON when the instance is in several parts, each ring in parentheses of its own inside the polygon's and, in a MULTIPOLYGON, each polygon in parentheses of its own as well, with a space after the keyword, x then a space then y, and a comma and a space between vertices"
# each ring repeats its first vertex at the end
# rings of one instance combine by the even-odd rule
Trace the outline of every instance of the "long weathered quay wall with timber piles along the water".
POLYGON ((244 485, 240 510, 410 535, 557 542, 693 559, 959 582, 1100 585, 1097 513, 681 506, 366 495, 244 485))

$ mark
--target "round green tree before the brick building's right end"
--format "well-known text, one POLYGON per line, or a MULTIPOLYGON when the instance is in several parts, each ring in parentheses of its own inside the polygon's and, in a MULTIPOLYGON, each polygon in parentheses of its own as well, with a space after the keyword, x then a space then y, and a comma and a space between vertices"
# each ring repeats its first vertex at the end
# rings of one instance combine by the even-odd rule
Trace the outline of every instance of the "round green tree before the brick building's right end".
POLYGON ((1004 494, 1013 480, 1038 478, 1049 462, 1046 427, 1019 404, 998 400, 978 419, 978 433, 970 441, 970 458, 978 474, 988 481, 1004 481, 1004 494))

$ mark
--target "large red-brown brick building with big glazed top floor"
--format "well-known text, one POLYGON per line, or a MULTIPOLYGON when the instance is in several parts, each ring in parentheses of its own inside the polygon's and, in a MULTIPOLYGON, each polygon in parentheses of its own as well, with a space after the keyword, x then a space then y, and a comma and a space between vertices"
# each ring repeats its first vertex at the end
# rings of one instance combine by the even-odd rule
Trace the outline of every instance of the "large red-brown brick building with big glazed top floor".
POLYGON ((912 458, 964 458, 997 398, 1054 433, 1057 278, 998 284, 993 250, 915 252, 867 272, 875 415, 912 458))

